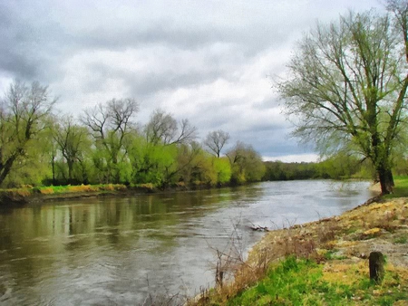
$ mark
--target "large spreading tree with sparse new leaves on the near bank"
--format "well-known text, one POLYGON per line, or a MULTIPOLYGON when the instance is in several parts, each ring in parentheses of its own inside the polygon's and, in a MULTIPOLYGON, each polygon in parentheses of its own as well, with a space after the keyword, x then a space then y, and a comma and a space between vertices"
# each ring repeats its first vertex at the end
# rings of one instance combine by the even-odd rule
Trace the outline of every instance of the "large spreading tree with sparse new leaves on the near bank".
POLYGON ((299 43, 278 89, 294 135, 322 154, 355 152, 372 161, 382 193, 393 189, 393 150, 407 123, 407 2, 391 15, 340 17, 317 25, 299 43), (294 116, 294 117, 292 117, 294 116))

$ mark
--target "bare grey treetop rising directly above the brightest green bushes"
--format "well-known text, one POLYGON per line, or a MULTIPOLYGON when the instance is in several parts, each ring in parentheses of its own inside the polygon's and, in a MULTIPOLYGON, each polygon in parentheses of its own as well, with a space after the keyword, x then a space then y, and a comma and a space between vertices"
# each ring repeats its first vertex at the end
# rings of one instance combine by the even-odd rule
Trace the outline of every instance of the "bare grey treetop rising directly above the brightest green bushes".
POLYGON ((178 124, 170 113, 163 110, 153 111, 144 132, 147 141, 153 144, 185 144, 197 138, 197 128, 192 126, 189 120, 181 120, 178 124))

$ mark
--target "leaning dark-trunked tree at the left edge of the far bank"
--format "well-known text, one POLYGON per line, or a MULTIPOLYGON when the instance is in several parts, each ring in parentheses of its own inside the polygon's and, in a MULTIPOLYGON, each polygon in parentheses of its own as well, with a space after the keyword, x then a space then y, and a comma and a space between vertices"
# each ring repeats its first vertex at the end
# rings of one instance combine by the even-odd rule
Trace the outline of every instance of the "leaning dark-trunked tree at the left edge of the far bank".
POLYGON ((15 162, 27 158, 27 149, 44 130, 44 120, 53 110, 55 99, 47 86, 34 81, 27 87, 14 81, 0 100, 0 184, 15 162))

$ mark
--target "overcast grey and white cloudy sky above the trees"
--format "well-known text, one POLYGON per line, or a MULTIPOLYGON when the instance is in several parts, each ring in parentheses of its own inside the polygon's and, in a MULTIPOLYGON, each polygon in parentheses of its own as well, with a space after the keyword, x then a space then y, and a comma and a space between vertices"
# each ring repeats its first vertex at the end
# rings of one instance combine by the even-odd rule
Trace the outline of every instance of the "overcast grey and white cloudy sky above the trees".
MULTIPOLYGON (((384 2, 384 1, 383 1, 384 2)), ((273 80, 304 33, 381 0, 0 0, 0 92, 40 81, 78 115, 112 98, 160 108, 203 138, 223 129, 266 159, 307 161, 273 80)))

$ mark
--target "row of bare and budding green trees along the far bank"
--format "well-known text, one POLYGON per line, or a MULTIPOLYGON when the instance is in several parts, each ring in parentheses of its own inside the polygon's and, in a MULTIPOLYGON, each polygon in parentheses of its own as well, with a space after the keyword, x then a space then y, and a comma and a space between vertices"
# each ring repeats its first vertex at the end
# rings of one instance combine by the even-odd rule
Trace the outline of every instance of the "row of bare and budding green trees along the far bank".
POLYGON ((0 104, 0 185, 151 184, 220 186, 260 180, 265 166, 250 145, 225 149, 228 132, 198 141, 189 120, 154 110, 136 121, 139 104, 112 99, 58 115, 47 86, 14 81, 0 104), (223 152, 225 150, 225 152, 223 152), (224 153, 224 154, 223 154, 224 153))

